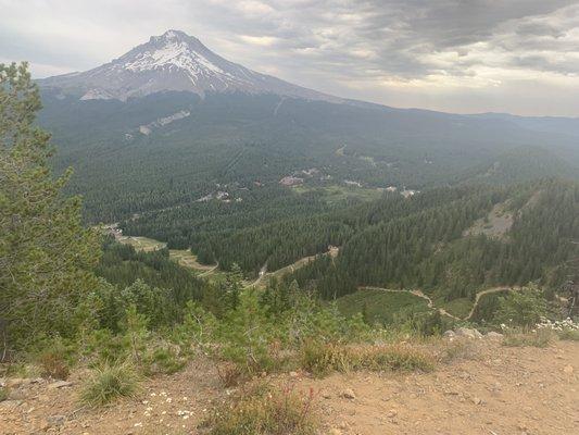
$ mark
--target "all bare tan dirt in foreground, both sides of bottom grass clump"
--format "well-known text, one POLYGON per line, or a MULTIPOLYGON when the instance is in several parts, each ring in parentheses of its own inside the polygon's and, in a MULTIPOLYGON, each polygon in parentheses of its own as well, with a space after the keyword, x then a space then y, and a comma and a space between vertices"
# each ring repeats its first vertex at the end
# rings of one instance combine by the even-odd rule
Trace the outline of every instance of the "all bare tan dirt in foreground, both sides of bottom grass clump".
MULTIPOLYGON (((281 375, 298 391, 313 388, 320 434, 572 435, 579 434, 579 344, 507 348, 488 338, 432 373, 352 373, 312 378, 281 375), (353 398, 343 397, 350 390, 353 398)), ((1 434, 199 434, 213 401, 228 396, 214 364, 144 383, 137 399, 81 409, 83 372, 72 385, 42 381, 13 389, 0 402, 1 434), (20 396, 18 396, 20 394, 20 396)))

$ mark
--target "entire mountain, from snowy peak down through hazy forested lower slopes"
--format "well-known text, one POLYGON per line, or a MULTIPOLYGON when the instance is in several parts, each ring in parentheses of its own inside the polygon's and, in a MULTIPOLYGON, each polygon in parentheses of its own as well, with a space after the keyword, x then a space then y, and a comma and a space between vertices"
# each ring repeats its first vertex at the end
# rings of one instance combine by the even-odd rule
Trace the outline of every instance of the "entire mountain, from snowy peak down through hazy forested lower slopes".
POLYGON ((579 166, 579 120, 340 99, 229 62, 178 30, 38 84, 56 170, 75 167, 71 190, 95 222, 190 203, 217 184, 277 186, 313 167, 323 179, 310 187, 425 190, 575 178, 579 166))

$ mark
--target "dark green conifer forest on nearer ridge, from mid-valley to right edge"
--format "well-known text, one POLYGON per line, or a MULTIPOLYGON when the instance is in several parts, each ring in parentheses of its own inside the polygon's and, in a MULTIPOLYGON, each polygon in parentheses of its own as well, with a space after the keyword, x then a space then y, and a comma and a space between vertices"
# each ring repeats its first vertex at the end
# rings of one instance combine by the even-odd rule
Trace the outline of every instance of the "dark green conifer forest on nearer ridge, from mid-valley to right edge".
POLYGON ((238 263, 249 275, 337 246, 336 259, 319 256, 287 279, 325 298, 378 286, 421 288, 452 300, 474 298, 489 286, 559 285, 566 261, 579 254, 574 243, 579 240, 578 189, 572 182, 547 178, 440 187, 410 198, 385 192, 372 201, 331 204, 322 191, 280 189, 286 194, 253 198, 260 208, 248 200, 242 206, 252 210, 248 214, 214 201, 144 215, 124 228, 192 247, 200 260, 223 270, 238 263), (211 208, 214 220, 204 214, 211 208))

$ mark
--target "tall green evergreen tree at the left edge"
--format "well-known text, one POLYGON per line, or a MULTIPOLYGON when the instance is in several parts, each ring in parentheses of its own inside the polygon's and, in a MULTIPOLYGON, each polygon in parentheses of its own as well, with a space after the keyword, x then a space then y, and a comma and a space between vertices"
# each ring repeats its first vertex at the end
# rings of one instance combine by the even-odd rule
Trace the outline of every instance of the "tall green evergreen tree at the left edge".
MULTIPOLYGON (((0 316, 4 350, 43 335, 72 335, 75 309, 98 285, 97 235, 80 223, 79 198, 64 198, 71 171, 51 174, 50 135, 25 63, 0 64, 0 316)), ((1 355, 1 353, 0 353, 1 355)))

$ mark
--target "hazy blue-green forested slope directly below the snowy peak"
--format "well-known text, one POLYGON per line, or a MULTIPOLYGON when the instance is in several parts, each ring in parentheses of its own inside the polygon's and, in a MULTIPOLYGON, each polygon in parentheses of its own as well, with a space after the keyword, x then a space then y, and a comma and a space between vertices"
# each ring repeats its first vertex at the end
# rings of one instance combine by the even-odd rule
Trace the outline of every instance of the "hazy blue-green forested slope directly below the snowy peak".
POLYGON ((56 167, 75 167, 70 190, 84 195, 93 223, 188 204, 219 186, 276 185, 287 175, 310 186, 352 181, 423 189, 517 147, 565 158, 577 150, 572 135, 508 120, 358 102, 188 92, 84 101, 50 89, 43 101, 39 121, 53 133, 56 167), (302 173, 311 169, 317 172, 302 173))

